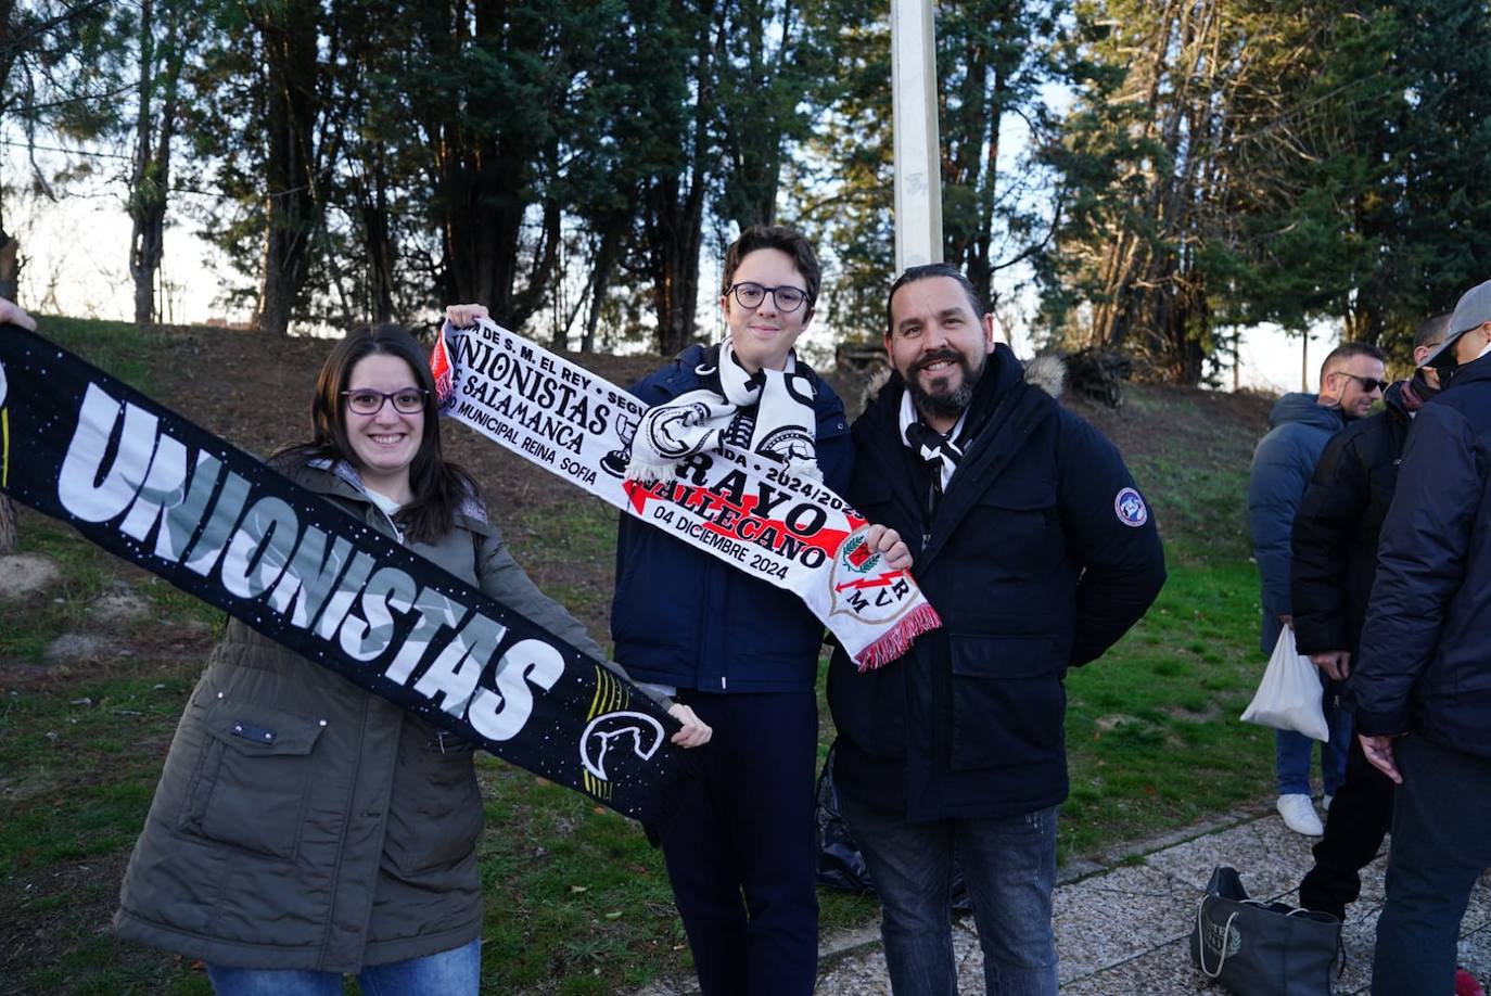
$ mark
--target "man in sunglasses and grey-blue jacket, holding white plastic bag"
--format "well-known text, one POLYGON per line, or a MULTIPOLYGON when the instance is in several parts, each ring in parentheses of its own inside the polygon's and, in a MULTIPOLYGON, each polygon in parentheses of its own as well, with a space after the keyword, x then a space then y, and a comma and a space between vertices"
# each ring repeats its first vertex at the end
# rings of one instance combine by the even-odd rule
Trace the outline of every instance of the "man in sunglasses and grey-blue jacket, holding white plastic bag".
MULTIPOLYGON (((1248 477, 1248 529, 1263 584, 1263 653, 1273 653, 1285 626, 1293 626, 1290 599, 1290 531, 1294 513, 1325 443, 1348 422, 1367 415, 1387 382, 1382 350, 1343 343, 1320 368, 1320 394, 1293 392, 1269 413, 1269 432, 1252 452, 1248 477)), ((1325 702, 1330 741, 1321 748, 1325 805, 1346 777, 1351 717, 1325 702)), ((1294 731, 1275 734, 1278 810, 1296 833, 1320 836, 1324 826, 1311 798, 1309 766, 1314 741, 1294 731)))

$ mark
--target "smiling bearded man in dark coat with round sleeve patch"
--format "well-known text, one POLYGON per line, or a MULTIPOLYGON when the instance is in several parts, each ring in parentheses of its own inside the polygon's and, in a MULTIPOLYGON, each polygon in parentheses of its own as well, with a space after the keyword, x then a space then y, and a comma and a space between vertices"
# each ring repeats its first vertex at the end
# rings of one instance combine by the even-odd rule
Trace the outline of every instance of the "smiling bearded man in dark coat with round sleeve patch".
POLYGON ((1054 996, 1063 678, 1154 601, 1160 538, 1118 450, 1030 383, 962 273, 911 267, 887 312, 895 376, 851 429, 847 497, 905 537, 942 626, 875 671, 833 655, 839 807, 896 993, 957 989, 956 850, 989 992, 1054 996))

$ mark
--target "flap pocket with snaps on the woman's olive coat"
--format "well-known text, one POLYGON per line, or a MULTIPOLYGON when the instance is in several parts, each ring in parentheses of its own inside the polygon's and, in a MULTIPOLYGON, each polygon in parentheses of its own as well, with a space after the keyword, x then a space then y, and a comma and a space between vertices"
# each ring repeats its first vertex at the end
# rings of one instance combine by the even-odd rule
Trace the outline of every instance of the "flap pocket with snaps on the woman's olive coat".
POLYGON ((179 829, 246 851, 294 860, 322 720, 222 699, 182 804, 179 829))

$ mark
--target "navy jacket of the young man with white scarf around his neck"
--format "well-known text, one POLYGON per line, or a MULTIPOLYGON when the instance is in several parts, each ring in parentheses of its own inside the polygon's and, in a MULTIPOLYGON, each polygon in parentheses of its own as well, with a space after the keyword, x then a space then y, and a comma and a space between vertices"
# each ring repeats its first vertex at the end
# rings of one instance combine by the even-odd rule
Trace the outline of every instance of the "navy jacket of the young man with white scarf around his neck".
MULTIPOLYGON (((632 386, 644 404, 705 385, 690 346, 632 386)), ((854 453, 844 403, 813 374, 817 458, 836 494, 854 453)), ((698 550, 658 526, 622 516, 611 601, 616 661, 634 681, 701 692, 805 692, 819 675, 823 623, 801 598, 698 550)))

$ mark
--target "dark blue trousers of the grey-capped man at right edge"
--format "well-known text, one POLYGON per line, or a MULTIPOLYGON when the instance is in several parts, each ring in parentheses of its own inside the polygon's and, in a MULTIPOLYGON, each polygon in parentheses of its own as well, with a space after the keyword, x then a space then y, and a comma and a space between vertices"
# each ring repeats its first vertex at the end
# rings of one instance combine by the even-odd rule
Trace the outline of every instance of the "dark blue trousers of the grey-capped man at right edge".
POLYGON ((1491 760, 1430 743, 1393 741, 1403 784, 1393 796, 1388 898, 1372 962, 1375 996, 1455 990, 1460 920, 1491 866, 1491 760))

